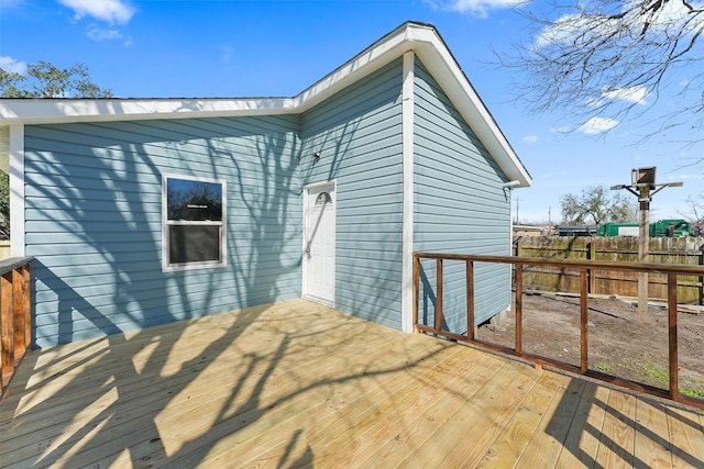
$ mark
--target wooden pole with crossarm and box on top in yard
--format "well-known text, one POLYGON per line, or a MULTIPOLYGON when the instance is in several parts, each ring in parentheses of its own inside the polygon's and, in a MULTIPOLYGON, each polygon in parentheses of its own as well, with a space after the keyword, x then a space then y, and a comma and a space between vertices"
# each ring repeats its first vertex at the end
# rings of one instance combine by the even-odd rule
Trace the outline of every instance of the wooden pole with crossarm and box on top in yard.
MULTIPOLYGON (((626 189, 638 198, 640 202, 640 225, 638 230, 638 261, 648 261, 650 248, 650 223, 648 215, 650 212, 650 201, 652 197, 667 187, 682 187, 682 182, 670 182, 667 185, 656 183, 656 167, 636 168, 630 174, 631 185, 613 186, 612 190, 626 189)), ((648 320, 648 272, 638 273, 638 319, 641 323, 648 320)))

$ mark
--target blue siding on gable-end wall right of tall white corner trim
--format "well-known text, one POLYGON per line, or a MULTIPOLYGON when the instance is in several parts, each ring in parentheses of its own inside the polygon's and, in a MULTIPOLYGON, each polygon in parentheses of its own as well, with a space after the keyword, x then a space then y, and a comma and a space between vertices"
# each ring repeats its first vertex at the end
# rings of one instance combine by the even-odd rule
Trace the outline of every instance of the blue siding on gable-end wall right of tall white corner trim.
MULTIPOLYGON (((505 175, 428 71, 417 63, 414 250, 508 255, 505 175)), ((420 321, 435 324, 436 263, 424 260, 420 321)), ((464 263, 443 264, 446 327, 466 331, 464 263)), ((510 303, 509 268, 475 265, 477 323, 510 303)))

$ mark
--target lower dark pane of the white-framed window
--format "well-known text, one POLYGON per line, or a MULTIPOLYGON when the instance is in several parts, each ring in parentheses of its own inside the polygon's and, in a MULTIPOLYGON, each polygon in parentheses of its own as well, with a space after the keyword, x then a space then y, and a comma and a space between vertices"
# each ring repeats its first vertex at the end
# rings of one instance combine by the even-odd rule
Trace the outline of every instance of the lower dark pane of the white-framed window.
POLYGON ((219 261, 220 226, 169 225, 169 264, 219 261))

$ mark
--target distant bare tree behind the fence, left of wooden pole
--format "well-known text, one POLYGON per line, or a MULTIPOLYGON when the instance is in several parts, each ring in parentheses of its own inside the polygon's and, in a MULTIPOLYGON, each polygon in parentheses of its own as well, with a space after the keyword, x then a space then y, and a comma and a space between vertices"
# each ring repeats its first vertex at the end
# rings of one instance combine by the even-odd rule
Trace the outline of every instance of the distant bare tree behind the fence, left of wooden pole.
POLYGON ((562 221, 569 225, 586 224, 596 226, 606 222, 630 223, 638 219, 638 204, 625 194, 612 192, 606 186, 594 186, 576 196, 560 198, 562 221))

